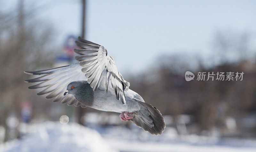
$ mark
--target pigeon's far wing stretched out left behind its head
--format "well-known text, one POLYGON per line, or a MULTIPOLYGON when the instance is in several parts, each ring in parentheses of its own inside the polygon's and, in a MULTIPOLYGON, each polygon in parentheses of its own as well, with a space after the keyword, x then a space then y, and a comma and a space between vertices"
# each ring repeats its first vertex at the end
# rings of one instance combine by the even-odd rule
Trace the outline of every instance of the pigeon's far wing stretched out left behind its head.
POLYGON ((75 106, 81 106, 83 108, 86 107, 85 105, 79 103, 73 95, 68 94, 64 96, 64 92, 70 82, 87 80, 84 73, 81 71, 81 66, 78 63, 53 69, 25 73, 32 75, 44 74, 43 76, 35 79, 25 80, 25 82, 40 82, 34 86, 28 87, 29 89, 43 88, 41 89, 42 91, 37 93, 37 95, 50 93, 46 96, 46 98, 54 98, 53 102, 61 101, 61 104, 68 103, 68 105, 74 104, 75 106))

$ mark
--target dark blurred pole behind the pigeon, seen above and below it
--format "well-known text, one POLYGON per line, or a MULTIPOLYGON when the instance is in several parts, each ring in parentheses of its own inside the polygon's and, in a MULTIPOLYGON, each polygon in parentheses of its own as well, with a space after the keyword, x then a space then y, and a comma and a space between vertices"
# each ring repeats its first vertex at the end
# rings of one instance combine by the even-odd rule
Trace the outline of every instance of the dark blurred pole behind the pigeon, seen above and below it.
MULTIPOLYGON (((85 39, 85 11, 86 11, 86 0, 82 0, 82 37, 85 39)), ((84 115, 84 112, 85 112, 85 108, 82 108, 82 107, 78 107, 77 109, 77 117, 78 117, 78 123, 81 124, 81 125, 84 125, 83 123, 83 115, 84 115)))

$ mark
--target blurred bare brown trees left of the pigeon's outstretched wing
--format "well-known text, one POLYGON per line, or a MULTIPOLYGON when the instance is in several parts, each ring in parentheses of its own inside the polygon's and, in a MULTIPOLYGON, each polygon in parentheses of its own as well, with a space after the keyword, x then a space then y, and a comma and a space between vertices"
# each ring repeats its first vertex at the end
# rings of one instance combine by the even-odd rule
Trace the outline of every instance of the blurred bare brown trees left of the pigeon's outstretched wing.
POLYGON ((31 97, 32 90, 24 82, 28 75, 23 71, 51 67, 53 63, 52 25, 36 19, 38 12, 31 10, 24 9, 23 0, 19 1, 17 10, 0 10, 1 124, 10 111, 19 116, 20 102, 31 97))

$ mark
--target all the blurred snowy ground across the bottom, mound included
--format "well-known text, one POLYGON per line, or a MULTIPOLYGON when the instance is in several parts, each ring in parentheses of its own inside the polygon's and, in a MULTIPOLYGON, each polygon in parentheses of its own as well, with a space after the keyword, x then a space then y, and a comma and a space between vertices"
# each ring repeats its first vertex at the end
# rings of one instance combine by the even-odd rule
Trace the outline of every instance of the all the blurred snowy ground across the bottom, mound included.
POLYGON ((219 139, 197 135, 178 135, 167 127, 161 136, 153 136, 132 125, 125 126, 89 125, 76 123, 45 122, 21 125, 25 135, 20 140, 0 145, 0 151, 88 151, 88 152, 255 152, 256 140, 219 139), (97 130, 97 131, 96 131, 97 130))

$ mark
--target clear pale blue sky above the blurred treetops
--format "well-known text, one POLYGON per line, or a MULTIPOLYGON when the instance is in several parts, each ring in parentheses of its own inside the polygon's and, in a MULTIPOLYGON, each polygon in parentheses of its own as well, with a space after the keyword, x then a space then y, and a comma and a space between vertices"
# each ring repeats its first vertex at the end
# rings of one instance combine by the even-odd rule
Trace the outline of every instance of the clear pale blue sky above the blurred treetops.
MULTIPOLYGON (((51 7, 38 17, 53 22, 56 42, 80 35, 80 0, 45 2, 51 7)), ((249 31, 256 42, 255 6, 252 0, 88 0, 86 39, 105 46, 121 72, 138 72, 163 53, 211 55, 216 30, 249 31)))

